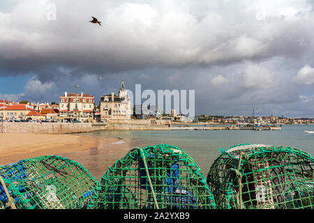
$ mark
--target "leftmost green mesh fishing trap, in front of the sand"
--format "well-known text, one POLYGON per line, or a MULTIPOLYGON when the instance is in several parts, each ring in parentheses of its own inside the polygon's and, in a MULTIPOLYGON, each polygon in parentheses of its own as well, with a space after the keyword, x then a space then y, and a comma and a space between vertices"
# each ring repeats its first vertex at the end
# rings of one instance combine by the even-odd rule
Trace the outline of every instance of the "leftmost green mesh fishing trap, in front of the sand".
MULTIPOLYGON (((87 208, 96 180, 78 162, 59 156, 43 156, 0 167, 0 176, 16 208, 87 208)), ((0 208, 10 208, 0 185, 0 208)))

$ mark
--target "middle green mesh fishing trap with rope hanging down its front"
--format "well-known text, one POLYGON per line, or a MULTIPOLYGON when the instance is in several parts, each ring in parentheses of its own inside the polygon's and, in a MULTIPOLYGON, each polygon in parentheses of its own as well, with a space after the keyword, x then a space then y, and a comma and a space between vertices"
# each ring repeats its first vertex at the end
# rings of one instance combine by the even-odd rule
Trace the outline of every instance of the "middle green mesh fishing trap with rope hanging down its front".
POLYGON ((134 148, 102 176, 89 208, 214 208, 194 160, 169 145, 134 148))

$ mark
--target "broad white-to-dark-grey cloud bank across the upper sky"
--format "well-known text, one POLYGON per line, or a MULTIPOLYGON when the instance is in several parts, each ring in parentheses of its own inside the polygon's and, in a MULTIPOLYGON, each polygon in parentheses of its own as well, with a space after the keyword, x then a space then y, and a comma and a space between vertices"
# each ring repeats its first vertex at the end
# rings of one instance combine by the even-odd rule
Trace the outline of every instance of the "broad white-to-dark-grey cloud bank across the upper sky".
POLYGON ((3 70, 40 72, 63 66, 82 72, 121 72, 296 57, 308 49, 313 36, 313 15, 297 14, 310 13, 303 3, 292 4, 291 10, 298 8, 290 14, 270 10, 257 19, 259 4, 252 7, 246 1, 51 2, 57 6, 56 21, 45 17, 49 1, 20 1, 9 13, 1 13, 3 70), (202 6, 207 11, 200 12, 202 6), (98 15, 104 26, 89 24, 90 14, 98 15))

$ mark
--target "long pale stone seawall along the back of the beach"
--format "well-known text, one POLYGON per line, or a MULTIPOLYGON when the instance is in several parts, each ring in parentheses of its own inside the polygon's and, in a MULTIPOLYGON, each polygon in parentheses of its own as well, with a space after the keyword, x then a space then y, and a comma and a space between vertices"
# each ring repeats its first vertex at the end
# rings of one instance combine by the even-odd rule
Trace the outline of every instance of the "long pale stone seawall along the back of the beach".
POLYGON ((91 123, 0 123, 0 132, 66 134, 92 131, 91 123))

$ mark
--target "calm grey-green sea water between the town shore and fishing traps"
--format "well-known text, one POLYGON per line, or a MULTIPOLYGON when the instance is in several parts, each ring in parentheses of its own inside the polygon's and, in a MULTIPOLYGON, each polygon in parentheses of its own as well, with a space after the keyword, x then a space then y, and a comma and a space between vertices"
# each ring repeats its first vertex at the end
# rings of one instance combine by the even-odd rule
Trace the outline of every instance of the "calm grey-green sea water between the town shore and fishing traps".
POLYGON ((105 130, 92 134, 98 137, 114 137, 128 141, 130 148, 171 144, 184 149, 207 176, 209 168, 220 155, 221 149, 238 144, 265 144, 273 146, 291 146, 314 155, 314 125, 283 125, 283 130, 166 130, 166 131, 124 131, 105 130))

